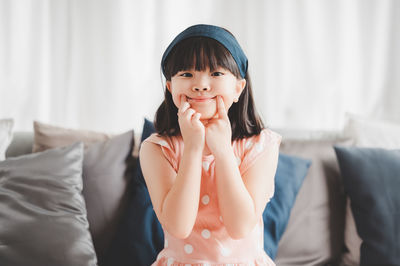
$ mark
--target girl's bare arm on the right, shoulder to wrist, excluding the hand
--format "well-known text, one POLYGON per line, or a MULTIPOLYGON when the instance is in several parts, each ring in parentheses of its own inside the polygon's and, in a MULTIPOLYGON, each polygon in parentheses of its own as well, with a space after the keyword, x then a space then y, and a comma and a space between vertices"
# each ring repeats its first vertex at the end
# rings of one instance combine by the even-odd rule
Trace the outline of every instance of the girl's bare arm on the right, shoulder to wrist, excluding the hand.
POLYGON ((218 204, 229 235, 245 237, 257 224, 274 186, 279 146, 271 149, 240 175, 233 150, 215 156, 218 204))

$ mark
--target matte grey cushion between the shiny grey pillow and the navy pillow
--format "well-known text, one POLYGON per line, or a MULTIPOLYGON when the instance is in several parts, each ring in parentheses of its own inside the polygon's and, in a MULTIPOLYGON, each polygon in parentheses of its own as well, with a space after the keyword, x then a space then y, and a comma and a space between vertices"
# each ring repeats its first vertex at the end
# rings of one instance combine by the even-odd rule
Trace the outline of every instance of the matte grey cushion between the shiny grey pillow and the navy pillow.
POLYGON ((126 207, 128 183, 136 165, 130 155, 133 146, 131 130, 91 144, 85 152, 83 195, 99 265, 126 207))

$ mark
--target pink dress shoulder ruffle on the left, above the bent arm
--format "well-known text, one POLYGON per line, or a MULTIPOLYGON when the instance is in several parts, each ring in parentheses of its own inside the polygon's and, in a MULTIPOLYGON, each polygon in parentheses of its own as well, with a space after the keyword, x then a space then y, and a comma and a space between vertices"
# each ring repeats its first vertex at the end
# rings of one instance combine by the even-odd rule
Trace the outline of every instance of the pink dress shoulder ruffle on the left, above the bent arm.
POLYGON ((172 168, 175 172, 178 172, 179 169, 179 150, 177 149, 179 146, 176 141, 170 137, 159 136, 157 133, 153 133, 143 142, 152 142, 161 147, 164 157, 168 160, 172 168))

